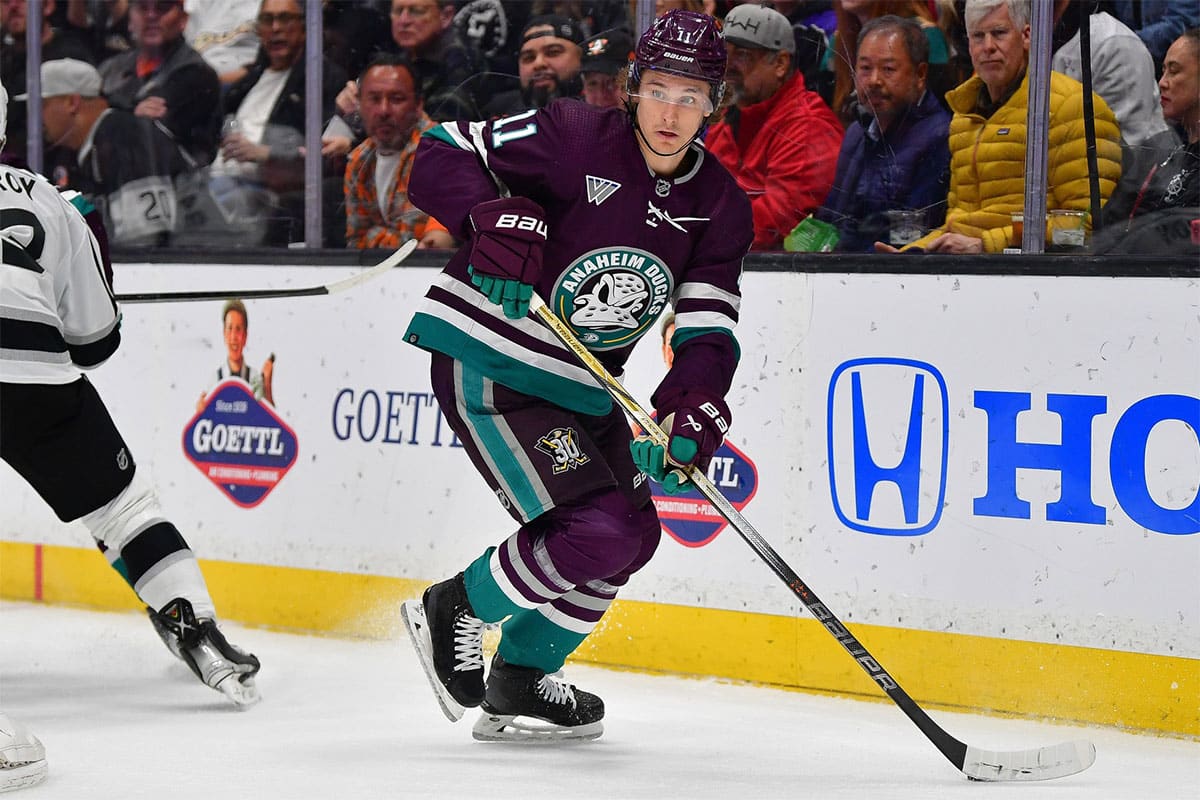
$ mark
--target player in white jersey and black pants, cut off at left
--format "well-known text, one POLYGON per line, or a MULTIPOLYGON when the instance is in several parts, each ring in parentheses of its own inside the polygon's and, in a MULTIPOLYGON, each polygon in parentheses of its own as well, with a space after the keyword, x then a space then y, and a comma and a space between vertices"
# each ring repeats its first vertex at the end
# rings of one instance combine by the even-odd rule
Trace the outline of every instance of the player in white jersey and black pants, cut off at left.
MULTIPOLYGON (((6 118, 0 86, 0 148, 6 118)), ((258 658, 222 636, 196 557, 80 372, 113 355, 121 321, 103 228, 84 211, 40 175, 0 164, 0 457, 60 519, 84 523, 172 652, 252 705, 258 658)))

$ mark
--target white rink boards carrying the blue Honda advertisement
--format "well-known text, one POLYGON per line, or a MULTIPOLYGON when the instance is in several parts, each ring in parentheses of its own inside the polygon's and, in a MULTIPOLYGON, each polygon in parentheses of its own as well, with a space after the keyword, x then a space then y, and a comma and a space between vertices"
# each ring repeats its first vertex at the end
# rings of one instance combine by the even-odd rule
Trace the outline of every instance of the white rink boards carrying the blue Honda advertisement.
MULTIPOLYGON (((118 290, 305 287, 354 271, 126 264, 118 265, 118 290)), ((401 267, 344 294, 248 303, 248 360, 257 367, 276 354, 276 408, 299 445, 290 471, 251 509, 212 486, 181 446, 196 401, 215 383, 224 355, 221 303, 124 308, 125 344, 91 378, 134 457, 149 468, 168 515, 202 558, 436 579, 511 531, 466 453, 446 446, 444 427, 436 444, 436 405, 425 405, 427 356, 402 341, 433 275, 401 267), (382 403, 392 393, 396 411, 386 435, 380 427, 365 440, 350 426, 349 435, 338 438, 347 433, 344 405, 337 405, 346 390, 355 398, 374 392, 382 403)), ((1200 536, 1157 533, 1122 505, 1141 498, 1136 516, 1154 525, 1178 523, 1190 513, 1180 510, 1196 505, 1196 432, 1166 417, 1147 432, 1146 422, 1178 409, 1187 419, 1200 404, 1195 281, 749 272, 743 291, 743 359, 730 399, 731 443, 757 469, 745 515, 834 613, 896 627, 1200 657, 1200 536), (846 366, 856 360, 874 361, 846 366), (905 452, 918 372, 929 413, 922 456, 914 457, 920 471, 906 473, 919 477, 906 485, 916 487, 917 519, 904 521, 900 493, 888 482, 880 483, 860 519, 854 485, 847 482, 862 463, 853 459, 851 379, 859 375, 871 457, 886 470, 905 452), (944 410, 935 373, 946 385, 944 410), (1025 456, 1007 445, 990 452, 983 405, 992 403, 990 414, 998 417, 996 403, 1026 393, 1031 410, 1016 417, 1014 445, 1060 441, 1061 417, 1046 410, 1054 396, 1067 416, 1084 419, 1076 429, 1090 433, 1090 455, 1080 456, 1087 443, 1079 437, 1057 456, 1045 449, 1025 456), (1153 399, 1160 396, 1181 399, 1153 399), (1142 463, 1140 451, 1134 458, 1129 447, 1145 449, 1140 494, 1127 477, 1110 476, 1115 432, 1121 464, 1142 463), (944 503, 936 524, 914 535, 854 529, 907 525, 902 533, 912 534, 923 527, 937 509, 942 441, 944 503), (1084 497, 1100 509, 1102 521, 1048 521, 1063 471, 1024 467, 1008 471, 1018 505, 1030 504, 1028 518, 1014 517, 1014 504, 1002 497, 992 505, 1008 516, 996 516, 995 507, 979 513, 994 452, 1013 464, 1066 459, 1073 486, 1090 470, 1084 497), (1159 511, 1151 518, 1146 507, 1159 511)), ((646 402, 662 369, 656 344, 638 348, 626 379, 646 402)), ((371 420, 365 428, 370 434, 371 420)), ((90 542, 82 527, 60 525, 7 468, 0 493, 0 537, 90 542)), ((799 613, 791 593, 728 529, 700 548, 664 536, 655 559, 623 596, 799 613)))

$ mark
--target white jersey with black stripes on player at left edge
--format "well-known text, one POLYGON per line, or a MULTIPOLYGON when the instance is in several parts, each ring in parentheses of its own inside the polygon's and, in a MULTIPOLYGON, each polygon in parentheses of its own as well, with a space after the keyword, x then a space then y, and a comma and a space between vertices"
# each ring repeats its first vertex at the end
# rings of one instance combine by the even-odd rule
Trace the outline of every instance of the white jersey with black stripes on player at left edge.
POLYGON ((41 175, 0 164, 0 381, 68 384, 120 343, 100 245, 41 175))

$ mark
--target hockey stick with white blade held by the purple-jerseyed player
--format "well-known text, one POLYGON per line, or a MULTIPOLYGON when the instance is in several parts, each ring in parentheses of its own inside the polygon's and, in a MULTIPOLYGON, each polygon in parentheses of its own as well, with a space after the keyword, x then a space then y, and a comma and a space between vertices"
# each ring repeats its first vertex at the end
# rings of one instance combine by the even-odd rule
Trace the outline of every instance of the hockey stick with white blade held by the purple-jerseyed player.
MULTIPOLYGON (((654 419, 637 404, 637 401, 625 391, 624 386, 608 374, 604 365, 575 338, 571 329, 556 317, 554 312, 536 294, 529 302, 529 309, 575 354, 600 386, 624 409, 625 414, 641 426, 655 444, 666 447, 668 438, 654 419)), ((838 643, 845 648, 846 652, 858 662, 858 666, 920 728, 925 738, 934 742, 934 746, 968 778, 976 781, 1045 781, 1081 772, 1096 762, 1096 746, 1085 740, 1068 741, 1034 750, 997 752, 971 747, 952 736, 934 722, 925 710, 917 705, 917 702, 888 674, 883 666, 866 651, 866 648, 817 599, 816 594, 809 589, 809 585, 780 558, 779 553, 767 543, 758 531, 755 530, 754 525, 746 522, 745 517, 713 486, 713 482, 708 480, 708 475, 703 470, 692 467, 688 476, 700 493, 716 507, 721 516, 738 531, 738 535, 745 540, 750 549, 766 561, 772 571, 787 584, 787 588, 799 597, 804 607, 838 639, 838 643)))

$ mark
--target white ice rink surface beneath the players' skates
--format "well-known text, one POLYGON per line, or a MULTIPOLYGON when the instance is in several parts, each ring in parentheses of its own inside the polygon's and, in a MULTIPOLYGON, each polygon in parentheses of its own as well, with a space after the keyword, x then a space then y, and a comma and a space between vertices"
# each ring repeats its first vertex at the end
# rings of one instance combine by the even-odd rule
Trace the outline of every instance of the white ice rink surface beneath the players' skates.
POLYGON ((1200 786, 1195 741, 934 711, 978 747, 1085 738, 1099 753, 1060 781, 983 784, 890 702, 574 664, 566 679, 605 699, 601 739, 481 744, 474 711, 457 724, 442 716, 402 634, 222 630, 263 662, 264 699, 245 712, 202 686, 142 615, 0 603, 0 704, 49 760, 43 784, 5 796, 1174 800, 1200 786))

